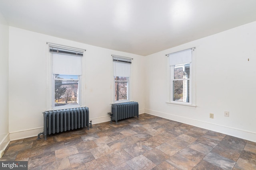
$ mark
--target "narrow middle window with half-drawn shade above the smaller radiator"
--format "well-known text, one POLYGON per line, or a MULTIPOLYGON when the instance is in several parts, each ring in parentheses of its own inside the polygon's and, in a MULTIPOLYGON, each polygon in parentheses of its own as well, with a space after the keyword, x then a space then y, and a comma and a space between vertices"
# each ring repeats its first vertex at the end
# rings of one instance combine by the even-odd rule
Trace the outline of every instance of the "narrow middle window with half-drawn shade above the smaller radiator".
POLYGON ((114 55, 112 57, 114 65, 114 102, 129 101, 130 65, 132 59, 114 55))

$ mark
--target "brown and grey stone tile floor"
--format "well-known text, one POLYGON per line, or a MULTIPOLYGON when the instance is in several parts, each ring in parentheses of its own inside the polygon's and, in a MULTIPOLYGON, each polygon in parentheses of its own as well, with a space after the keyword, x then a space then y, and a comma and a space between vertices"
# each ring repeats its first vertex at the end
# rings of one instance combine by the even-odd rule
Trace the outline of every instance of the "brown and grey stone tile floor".
POLYGON ((3 160, 33 170, 256 170, 256 143, 144 113, 11 141, 3 160))

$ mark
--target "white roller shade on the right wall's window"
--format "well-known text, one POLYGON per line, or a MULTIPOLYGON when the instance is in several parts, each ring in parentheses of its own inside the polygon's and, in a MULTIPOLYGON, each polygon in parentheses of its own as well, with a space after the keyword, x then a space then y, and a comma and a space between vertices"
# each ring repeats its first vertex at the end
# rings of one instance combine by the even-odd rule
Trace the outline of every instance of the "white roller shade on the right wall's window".
POLYGON ((169 65, 174 66, 177 64, 191 63, 192 62, 192 50, 188 49, 179 51, 177 53, 168 54, 169 65))

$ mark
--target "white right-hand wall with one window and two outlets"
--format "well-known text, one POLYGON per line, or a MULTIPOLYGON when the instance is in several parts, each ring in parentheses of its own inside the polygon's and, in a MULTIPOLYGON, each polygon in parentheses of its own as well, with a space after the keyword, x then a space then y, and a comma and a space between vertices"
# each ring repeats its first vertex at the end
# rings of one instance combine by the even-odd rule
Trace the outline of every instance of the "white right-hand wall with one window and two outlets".
POLYGON ((147 56, 146 113, 256 142, 255 30, 252 22, 147 56), (166 104, 165 55, 191 47, 196 47, 197 107, 166 104), (224 117, 224 111, 230 116, 224 117))

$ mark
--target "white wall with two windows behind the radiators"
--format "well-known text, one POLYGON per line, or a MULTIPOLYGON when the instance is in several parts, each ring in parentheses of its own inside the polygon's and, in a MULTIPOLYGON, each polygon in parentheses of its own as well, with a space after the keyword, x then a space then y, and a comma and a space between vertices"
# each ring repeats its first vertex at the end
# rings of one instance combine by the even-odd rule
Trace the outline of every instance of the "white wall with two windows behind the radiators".
POLYGON ((86 49, 83 57, 82 105, 88 106, 92 124, 110 121, 113 88, 112 57, 132 60, 132 100, 144 113, 145 57, 10 27, 9 129, 10 140, 36 136, 43 129, 43 115, 50 109, 49 55, 46 42, 86 49))

